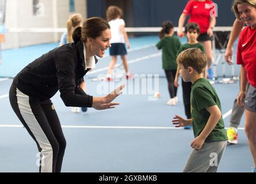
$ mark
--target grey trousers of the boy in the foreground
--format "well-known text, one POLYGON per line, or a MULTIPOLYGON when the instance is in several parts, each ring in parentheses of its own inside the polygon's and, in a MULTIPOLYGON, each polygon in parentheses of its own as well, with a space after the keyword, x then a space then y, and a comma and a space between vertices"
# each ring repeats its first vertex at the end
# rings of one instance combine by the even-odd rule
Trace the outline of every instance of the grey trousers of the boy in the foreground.
POLYGON ((192 150, 184 173, 217 172, 227 141, 211 141, 204 143, 201 150, 192 150))

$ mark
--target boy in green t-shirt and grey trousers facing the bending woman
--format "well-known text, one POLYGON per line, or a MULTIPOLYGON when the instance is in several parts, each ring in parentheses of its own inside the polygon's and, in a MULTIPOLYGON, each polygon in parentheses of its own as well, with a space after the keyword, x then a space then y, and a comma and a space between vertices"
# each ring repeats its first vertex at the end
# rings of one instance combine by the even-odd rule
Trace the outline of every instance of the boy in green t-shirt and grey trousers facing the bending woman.
POLYGON ((184 82, 192 82, 191 119, 173 118, 175 127, 192 125, 195 139, 183 172, 217 172, 227 145, 227 131, 221 116, 220 99, 210 82, 203 78, 206 54, 199 48, 189 48, 177 56, 184 82))

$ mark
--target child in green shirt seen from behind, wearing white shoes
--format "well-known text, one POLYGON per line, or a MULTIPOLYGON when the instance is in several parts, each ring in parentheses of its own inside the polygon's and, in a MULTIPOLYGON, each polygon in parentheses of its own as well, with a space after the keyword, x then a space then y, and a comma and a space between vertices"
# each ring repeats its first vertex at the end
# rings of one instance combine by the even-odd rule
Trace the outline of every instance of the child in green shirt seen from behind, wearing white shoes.
POLYGON ((174 26, 172 22, 164 21, 162 23, 162 30, 159 33, 161 40, 156 45, 158 49, 162 49, 162 68, 165 71, 170 95, 170 99, 166 103, 167 105, 176 105, 176 102, 178 101, 177 87, 174 86, 173 82, 177 70, 176 56, 181 43, 173 34, 174 26))

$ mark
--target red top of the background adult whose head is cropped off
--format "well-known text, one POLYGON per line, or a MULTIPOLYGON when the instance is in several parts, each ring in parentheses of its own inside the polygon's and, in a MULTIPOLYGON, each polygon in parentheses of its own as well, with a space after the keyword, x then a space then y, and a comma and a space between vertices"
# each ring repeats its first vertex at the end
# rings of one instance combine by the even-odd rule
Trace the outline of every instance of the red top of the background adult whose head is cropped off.
POLYGON ((195 22, 200 27, 200 33, 206 33, 210 25, 210 16, 216 16, 215 3, 206 0, 200 2, 197 0, 188 1, 183 13, 190 15, 188 22, 195 22))

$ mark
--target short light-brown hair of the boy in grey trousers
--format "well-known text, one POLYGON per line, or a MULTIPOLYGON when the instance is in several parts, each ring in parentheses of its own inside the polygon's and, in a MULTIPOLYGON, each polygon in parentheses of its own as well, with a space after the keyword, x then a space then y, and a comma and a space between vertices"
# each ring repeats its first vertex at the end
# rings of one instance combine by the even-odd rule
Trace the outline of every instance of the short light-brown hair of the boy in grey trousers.
POLYGON ((185 69, 192 67, 198 74, 201 74, 205 70, 207 57, 205 52, 199 48, 188 48, 177 56, 176 62, 183 64, 185 69))

